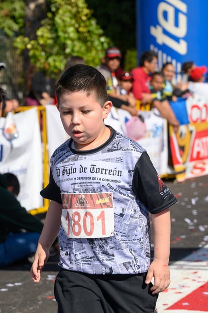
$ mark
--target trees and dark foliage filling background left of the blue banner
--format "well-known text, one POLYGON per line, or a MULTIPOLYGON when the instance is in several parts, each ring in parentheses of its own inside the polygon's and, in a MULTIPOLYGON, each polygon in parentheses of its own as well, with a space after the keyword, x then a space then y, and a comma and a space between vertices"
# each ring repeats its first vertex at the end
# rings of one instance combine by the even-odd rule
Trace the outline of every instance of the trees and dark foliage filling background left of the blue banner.
MULTIPOLYGON (((98 65, 111 44, 126 56, 123 65, 131 67, 136 61, 131 52, 136 46, 135 20, 135 0, 0 2, 0 29, 9 37, 18 35, 15 46, 24 52, 24 63, 28 63, 29 54, 37 69, 55 73, 64 68, 70 55, 79 55, 87 64, 98 65)), ((136 51, 133 52, 135 55, 136 51)))

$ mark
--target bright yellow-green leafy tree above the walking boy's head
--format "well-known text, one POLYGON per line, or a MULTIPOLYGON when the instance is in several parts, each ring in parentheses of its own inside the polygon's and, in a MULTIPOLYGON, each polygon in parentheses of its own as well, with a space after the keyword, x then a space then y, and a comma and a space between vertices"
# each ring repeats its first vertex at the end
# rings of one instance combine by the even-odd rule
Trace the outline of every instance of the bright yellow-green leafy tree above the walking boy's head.
POLYGON ((15 46, 29 50, 29 57, 38 69, 59 72, 70 55, 83 57, 89 65, 100 63, 110 39, 92 17, 85 0, 48 0, 46 19, 36 32, 36 39, 20 35, 15 46))

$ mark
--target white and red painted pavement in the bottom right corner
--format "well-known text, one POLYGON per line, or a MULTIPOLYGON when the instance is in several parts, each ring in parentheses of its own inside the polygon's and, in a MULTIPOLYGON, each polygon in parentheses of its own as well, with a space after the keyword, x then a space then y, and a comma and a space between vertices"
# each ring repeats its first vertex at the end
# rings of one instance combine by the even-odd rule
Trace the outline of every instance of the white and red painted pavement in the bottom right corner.
POLYGON ((171 284, 160 293, 158 313, 208 312, 208 245, 170 265, 171 284))

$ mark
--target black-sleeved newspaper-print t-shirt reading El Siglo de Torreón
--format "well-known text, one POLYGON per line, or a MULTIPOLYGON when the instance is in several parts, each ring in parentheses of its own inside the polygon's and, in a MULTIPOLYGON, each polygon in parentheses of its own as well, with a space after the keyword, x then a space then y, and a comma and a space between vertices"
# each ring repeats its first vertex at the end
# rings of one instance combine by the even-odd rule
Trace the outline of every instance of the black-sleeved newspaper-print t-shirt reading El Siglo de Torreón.
POLYGON ((63 210, 64 205, 67 208, 59 231, 59 265, 88 274, 147 272, 149 212, 164 210, 176 199, 160 180, 146 151, 114 129, 105 144, 89 151, 76 150, 68 139, 53 153, 51 173, 47 191, 41 194, 62 203, 63 210), (140 181, 144 181, 142 185, 140 181), (112 209, 111 193, 114 229, 111 236, 102 237, 112 209), (67 215, 70 208, 71 215, 67 215), (95 231, 92 224, 101 230, 95 231))

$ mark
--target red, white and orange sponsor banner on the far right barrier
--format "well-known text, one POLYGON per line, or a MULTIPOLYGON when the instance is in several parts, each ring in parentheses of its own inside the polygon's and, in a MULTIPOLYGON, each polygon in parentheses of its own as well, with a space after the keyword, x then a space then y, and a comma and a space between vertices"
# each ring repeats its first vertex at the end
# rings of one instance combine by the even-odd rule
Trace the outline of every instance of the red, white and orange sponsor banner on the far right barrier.
MULTIPOLYGON (((170 132, 173 166, 178 181, 208 174, 208 99, 186 100, 188 123, 170 132)), ((182 113, 182 112, 181 112, 182 113)))

